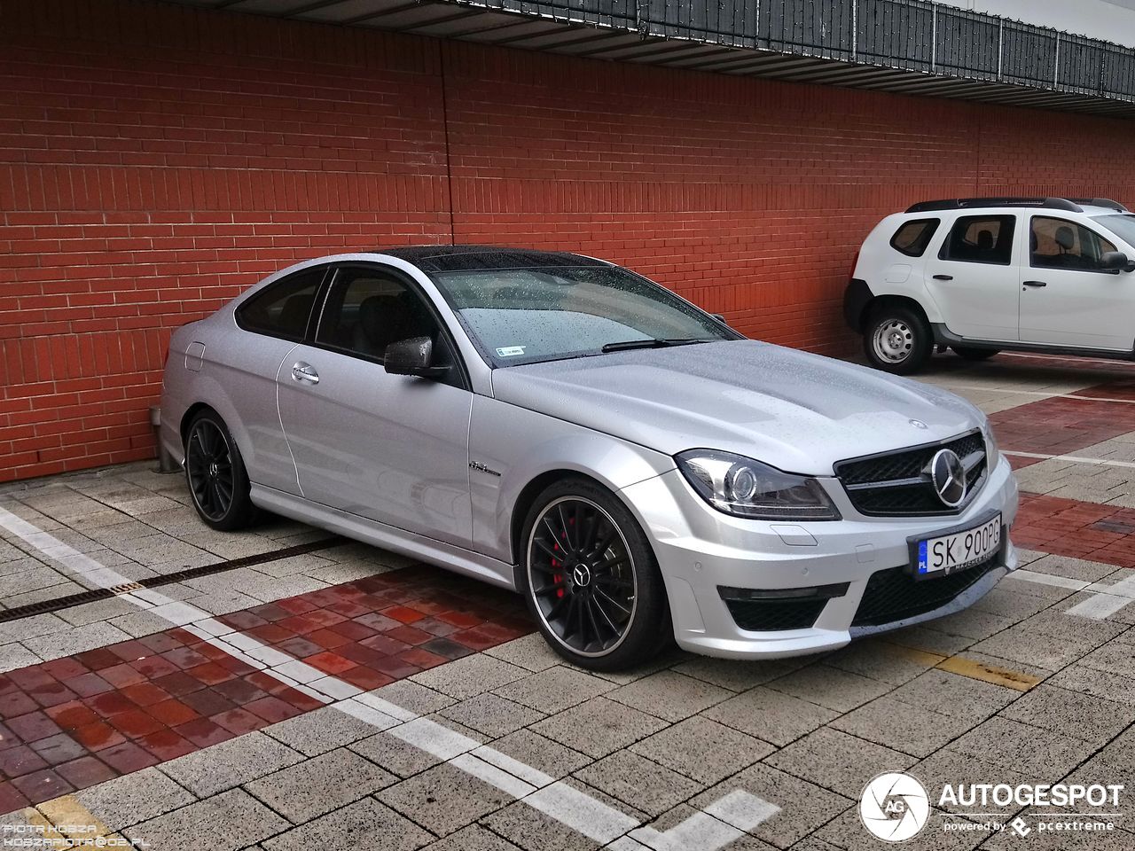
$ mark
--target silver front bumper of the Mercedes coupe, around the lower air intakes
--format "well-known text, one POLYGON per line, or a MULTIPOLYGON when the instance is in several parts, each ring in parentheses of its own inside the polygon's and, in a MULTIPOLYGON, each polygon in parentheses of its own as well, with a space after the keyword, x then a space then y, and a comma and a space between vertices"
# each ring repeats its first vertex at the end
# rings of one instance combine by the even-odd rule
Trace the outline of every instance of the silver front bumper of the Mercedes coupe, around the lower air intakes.
MULTIPOLYGON (((781 523, 745 520, 715 511, 678 470, 638 482, 622 496, 638 515, 662 570, 680 647, 729 658, 775 658, 834 650, 852 638, 899 629, 960 610, 980 599, 1009 571, 1017 554, 1004 536, 1000 554, 976 581, 935 608, 886 623, 854 626, 872 575, 909 563, 910 537, 977 524, 1001 512, 1008 531, 1017 514, 1017 485, 1003 457, 981 491, 953 516, 866 517, 858 514, 834 479, 823 481, 843 520, 781 523), (799 589, 847 585, 823 604, 805 629, 746 630, 722 593, 737 589, 799 589)), ((956 574, 960 575, 960 574, 956 574)), ((878 588, 876 579, 874 588, 878 588)), ((923 589, 927 583, 919 582, 923 589)))

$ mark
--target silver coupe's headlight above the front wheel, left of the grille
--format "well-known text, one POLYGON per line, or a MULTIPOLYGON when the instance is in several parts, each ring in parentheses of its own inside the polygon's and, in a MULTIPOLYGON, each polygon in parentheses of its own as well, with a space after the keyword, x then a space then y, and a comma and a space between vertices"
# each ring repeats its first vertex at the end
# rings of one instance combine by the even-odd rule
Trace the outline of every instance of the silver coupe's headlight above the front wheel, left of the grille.
POLYGON ((815 479, 713 449, 690 449, 674 460, 701 498, 725 514, 756 520, 840 519, 815 479))

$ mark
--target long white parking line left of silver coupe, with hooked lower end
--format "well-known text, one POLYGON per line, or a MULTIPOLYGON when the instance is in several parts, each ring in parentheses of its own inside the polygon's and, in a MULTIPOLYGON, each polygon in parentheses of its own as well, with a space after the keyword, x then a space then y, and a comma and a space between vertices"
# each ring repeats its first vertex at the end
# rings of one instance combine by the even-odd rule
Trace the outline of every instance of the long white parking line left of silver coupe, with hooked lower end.
MULTIPOLYGON (((129 582, 125 576, 120 576, 2 507, 0 507, 0 526, 35 547, 40 553, 50 555, 66 571, 82 576, 85 583, 89 583, 87 587, 112 588, 129 582)), ((304 694, 329 703, 339 711, 372 724, 377 730, 386 731, 407 744, 468 772, 585 836, 599 843, 612 843, 608 846, 613 849, 717 851, 726 843, 743 836, 746 831, 780 812, 780 807, 776 804, 748 792, 734 790, 706 810, 693 814, 665 833, 653 827, 640 828, 641 823, 638 819, 568 783, 555 781, 543 772, 430 718, 419 717, 409 709, 375 694, 364 693, 337 677, 325 675, 301 659, 267 647, 251 635, 236 632, 208 612, 188 604, 179 604, 155 591, 148 591, 144 596, 141 592, 124 593, 121 597, 166 620, 170 625, 197 635, 250 667, 263 671, 304 694), (634 840, 627 835, 631 831, 634 840)))

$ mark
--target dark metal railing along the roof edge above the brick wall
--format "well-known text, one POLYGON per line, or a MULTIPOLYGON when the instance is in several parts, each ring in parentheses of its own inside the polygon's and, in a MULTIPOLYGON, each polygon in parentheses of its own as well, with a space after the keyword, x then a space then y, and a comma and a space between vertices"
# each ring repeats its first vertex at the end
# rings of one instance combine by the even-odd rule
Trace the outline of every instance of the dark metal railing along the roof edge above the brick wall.
POLYGON ((1135 50, 932 0, 455 0, 735 48, 1135 101, 1135 50))

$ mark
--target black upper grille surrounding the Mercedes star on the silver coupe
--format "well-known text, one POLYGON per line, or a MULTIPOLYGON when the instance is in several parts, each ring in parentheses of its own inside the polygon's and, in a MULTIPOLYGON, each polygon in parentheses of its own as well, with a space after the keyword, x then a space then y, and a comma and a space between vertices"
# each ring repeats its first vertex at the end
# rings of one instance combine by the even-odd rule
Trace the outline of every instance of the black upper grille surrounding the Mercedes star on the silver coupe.
POLYGON ((871 516, 931 516, 957 514, 985 483, 985 439, 974 431, 953 440, 910 449, 842 461, 835 465, 843 489, 860 514, 871 516), (953 449, 966 470, 966 499, 950 508, 939 499, 926 466, 940 449, 953 449))

